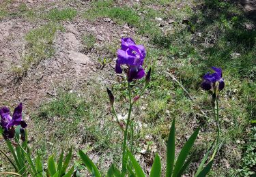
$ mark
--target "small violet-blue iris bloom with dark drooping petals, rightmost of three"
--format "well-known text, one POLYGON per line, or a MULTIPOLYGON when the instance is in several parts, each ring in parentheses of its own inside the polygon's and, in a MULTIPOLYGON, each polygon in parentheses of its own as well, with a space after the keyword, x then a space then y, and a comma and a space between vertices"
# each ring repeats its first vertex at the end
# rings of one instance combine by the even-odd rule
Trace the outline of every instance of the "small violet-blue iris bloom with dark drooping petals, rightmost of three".
POLYGON ((218 90, 223 90, 225 86, 225 82, 223 79, 223 72, 221 68, 218 67, 212 67, 212 69, 215 71, 213 74, 205 74, 203 76, 203 82, 201 84, 201 87, 205 91, 209 91, 212 88, 216 88, 216 82, 218 82, 218 90))

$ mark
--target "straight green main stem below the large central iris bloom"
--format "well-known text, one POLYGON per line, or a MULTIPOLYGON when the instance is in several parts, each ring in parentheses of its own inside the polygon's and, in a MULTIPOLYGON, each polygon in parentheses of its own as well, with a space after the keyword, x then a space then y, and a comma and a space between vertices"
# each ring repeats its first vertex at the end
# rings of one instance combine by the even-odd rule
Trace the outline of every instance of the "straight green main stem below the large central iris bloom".
POLYGON ((123 157, 122 157, 122 172, 123 173, 126 171, 126 161, 125 161, 126 141, 127 141, 128 127, 130 124, 130 114, 132 112, 132 97, 131 97, 131 93, 130 93, 130 82, 128 82, 128 91, 129 91, 129 112, 128 112, 128 118, 127 118, 127 123, 126 123, 126 130, 124 131, 123 157))

